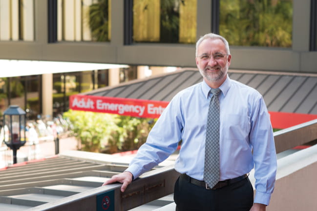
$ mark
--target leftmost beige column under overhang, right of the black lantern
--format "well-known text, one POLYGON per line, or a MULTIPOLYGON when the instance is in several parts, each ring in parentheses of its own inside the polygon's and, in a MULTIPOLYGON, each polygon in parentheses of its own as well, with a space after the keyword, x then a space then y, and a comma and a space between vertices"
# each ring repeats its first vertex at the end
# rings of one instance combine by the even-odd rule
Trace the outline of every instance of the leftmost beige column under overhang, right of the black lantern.
POLYGON ((42 75, 42 114, 53 116, 53 74, 42 75))

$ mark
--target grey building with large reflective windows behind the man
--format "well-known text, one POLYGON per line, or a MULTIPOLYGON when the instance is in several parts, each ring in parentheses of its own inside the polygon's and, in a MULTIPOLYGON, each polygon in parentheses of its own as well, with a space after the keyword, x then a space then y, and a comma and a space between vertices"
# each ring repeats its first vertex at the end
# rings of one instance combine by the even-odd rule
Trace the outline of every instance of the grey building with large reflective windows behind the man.
POLYGON ((195 68, 195 41, 209 32, 228 39, 231 69, 317 74, 316 13, 316 0, 0 0, 0 60, 126 65, 30 65, 14 77, 1 65, 0 109, 56 115, 71 94, 195 68))

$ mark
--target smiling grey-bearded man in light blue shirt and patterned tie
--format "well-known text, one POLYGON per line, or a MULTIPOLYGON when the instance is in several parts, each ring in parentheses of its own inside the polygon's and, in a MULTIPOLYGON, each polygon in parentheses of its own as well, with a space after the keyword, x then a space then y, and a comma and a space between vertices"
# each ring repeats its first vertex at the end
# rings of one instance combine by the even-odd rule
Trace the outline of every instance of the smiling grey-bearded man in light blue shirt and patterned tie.
POLYGON ((127 171, 104 185, 121 182, 124 192, 182 140, 176 211, 265 211, 275 185, 273 130, 263 97, 227 75, 231 58, 225 38, 200 38, 196 64, 203 81, 173 97, 127 171), (255 198, 247 177, 254 167, 255 198))

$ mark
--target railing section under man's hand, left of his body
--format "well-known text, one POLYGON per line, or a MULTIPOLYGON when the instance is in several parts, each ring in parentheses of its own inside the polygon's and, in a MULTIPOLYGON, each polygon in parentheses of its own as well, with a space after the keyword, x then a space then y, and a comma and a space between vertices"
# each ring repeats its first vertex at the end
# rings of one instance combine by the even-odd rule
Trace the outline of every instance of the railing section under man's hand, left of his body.
POLYGON ((121 184, 111 184, 90 191, 81 192, 46 203, 27 211, 96 211, 103 210, 97 204, 97 195, 114 191, 114 211, 127 211, 173 192, 178 178, 173 165, 152 170, 133 181, 125 192, 120 191, 121 184))

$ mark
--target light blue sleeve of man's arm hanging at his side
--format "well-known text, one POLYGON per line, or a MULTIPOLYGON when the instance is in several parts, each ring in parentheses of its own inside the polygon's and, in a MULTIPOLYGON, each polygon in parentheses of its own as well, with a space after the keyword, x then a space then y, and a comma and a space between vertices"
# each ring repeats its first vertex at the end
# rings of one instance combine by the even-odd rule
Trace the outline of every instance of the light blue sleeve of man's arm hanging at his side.
POLYGON ((263 98, 254 102, 251 115, 250 142, 253 145, 254 204, 269 205, 276 175, 276 151, 273 129, 263 98))

